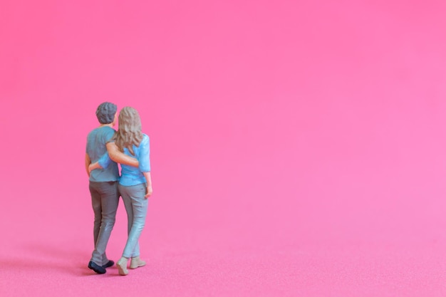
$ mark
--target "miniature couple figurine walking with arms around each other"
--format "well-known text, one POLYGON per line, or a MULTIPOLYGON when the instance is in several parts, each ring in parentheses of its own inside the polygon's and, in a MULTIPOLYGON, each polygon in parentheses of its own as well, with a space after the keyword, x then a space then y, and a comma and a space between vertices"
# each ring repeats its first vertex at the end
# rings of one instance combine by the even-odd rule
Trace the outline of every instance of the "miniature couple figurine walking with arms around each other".
POLYGON ((91 203, 95 215, 94 246, 88 268, 105 273, 115 264, 107 258, 105 249, 115 224, 119 196, 123 197, 128 218, 128 239, 123 256, 116 262, 118 272, 145 266, 140 259, 140 238, 147 214, 148 197, 152 194, 150 177, 149 137, 141 131, 141 120, 135 108, 125 107, 117 114, 113 103, 102 103, 96 110, 100 126, 87 137, 85 169, 89 177, 91 203), (119 121, 118 131, 113 129, 119 121), (119 176, 118 164, 121 164, 119 176))

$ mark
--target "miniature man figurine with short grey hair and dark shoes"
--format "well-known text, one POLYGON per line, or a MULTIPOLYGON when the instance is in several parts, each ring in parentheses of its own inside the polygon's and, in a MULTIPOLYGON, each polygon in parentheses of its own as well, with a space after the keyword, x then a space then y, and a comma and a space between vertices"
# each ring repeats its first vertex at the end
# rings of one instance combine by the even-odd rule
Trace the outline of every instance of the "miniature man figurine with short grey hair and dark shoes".
MULTIPOLYGON (((100 104, 96 110, 100 126, 92 130, 87 137, 85 170, 87 170, 90 180, 91 204, 95 214, 93 227, 95 249, 88 263, 88 268, 95 273, 105 273, 106 268, 115 264, 107 258, 105 248, 115 225, 118 209, 120 196, 118 192, 119 170, 115 162, 111 162, 107 168, 93 170, 92 172, 89 172, 88 166, 107 152, 106 143, 115 134, 113 126, 118 119, 117 109, 117 106, 113 103, 100 104)), ((126 165, 138 166, 138 160, 125 155, 120 155, 119 161, 126 165)))

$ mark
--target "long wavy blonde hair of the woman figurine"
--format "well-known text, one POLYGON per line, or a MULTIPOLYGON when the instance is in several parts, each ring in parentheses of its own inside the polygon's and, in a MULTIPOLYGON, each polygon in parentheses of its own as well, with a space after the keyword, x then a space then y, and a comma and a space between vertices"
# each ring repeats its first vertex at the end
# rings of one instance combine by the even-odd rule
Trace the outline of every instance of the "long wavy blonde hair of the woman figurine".
POLYGON ((113 137, 115 145, 121 152, 124 152, 124 148, 127 147, 129 152, 135 155, 133 145, 139 147, 142 141, 141 119, 138 110, 126 106, 120 111, 118 122, 118 132, 113 137))

